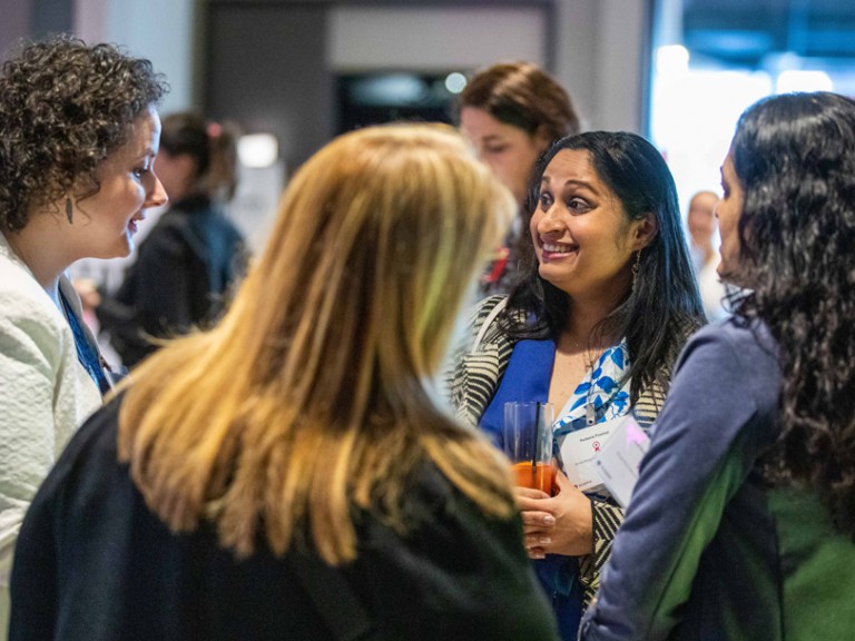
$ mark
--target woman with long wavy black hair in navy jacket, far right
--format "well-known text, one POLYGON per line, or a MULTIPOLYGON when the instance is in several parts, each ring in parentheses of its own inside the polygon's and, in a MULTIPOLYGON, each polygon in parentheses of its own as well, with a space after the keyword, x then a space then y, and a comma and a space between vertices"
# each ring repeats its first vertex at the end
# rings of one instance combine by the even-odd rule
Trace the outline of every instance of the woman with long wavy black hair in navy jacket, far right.
POLYGON ((680 357, 588 640, 855 635, 855 101, 748 108, 721 185, 745 293, 680 357))

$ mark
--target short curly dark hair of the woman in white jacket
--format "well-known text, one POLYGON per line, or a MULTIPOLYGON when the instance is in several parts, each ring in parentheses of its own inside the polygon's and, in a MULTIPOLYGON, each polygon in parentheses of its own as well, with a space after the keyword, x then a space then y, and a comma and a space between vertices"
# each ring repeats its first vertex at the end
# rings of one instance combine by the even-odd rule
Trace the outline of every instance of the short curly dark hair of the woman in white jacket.
POLYGON ((98 191, 96 169, 168 91, 151 62, 69 36, 26 45, 0 72, 0 229, 72 186, 98 191))

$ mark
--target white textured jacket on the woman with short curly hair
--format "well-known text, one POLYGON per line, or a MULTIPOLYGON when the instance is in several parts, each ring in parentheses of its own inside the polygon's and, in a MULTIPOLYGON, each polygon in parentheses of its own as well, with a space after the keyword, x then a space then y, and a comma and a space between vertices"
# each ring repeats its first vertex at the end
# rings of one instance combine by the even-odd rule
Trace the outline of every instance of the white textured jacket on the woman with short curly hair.
MULTIPOLYGON (((60 288, 79 318, 68 278, 60 288)), ((0 234, 0 592, 8 589, 14 542, 36 491, 100 405, 68 320, 0 234)))

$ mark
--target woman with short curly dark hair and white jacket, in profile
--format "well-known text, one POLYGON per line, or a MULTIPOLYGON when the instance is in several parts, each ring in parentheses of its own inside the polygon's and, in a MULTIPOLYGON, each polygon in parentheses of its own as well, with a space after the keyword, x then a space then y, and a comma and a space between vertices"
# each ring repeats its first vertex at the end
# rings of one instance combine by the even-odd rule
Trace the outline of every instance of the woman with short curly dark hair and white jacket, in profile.
POLYGON ((166 201, 153 171, 166 90, 148 60, 68 37, 0 73, 0 635, 23 514, 109 388, 66 269, 127 256, 166 201))

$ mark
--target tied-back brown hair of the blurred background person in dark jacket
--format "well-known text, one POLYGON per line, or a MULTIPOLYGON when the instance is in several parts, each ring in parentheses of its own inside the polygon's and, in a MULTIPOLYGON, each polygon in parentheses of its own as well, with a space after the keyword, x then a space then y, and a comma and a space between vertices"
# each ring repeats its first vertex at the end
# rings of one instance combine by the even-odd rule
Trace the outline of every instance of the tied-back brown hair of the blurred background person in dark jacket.
POLYGON ((230 200, 237 188, 237 138, 233 122, 212 122, 197 111, 170 114, 161 119, 160 149, 187 155, 196 164, 195 191, 230 200))

